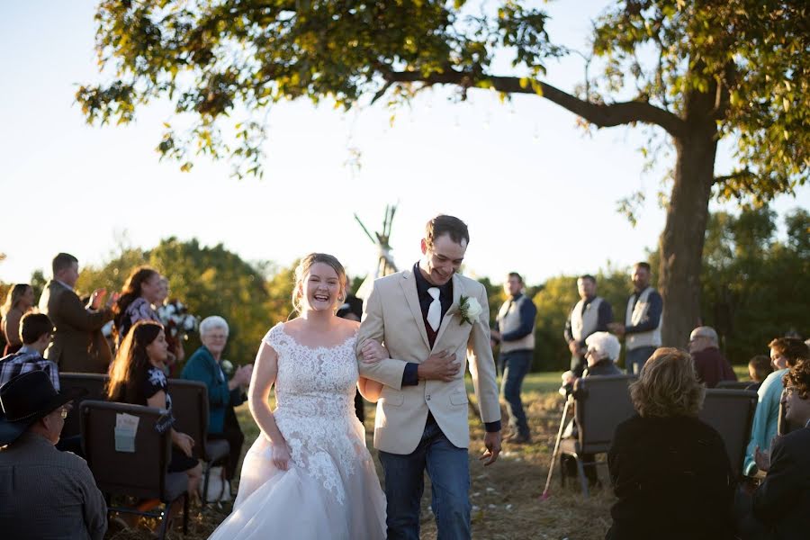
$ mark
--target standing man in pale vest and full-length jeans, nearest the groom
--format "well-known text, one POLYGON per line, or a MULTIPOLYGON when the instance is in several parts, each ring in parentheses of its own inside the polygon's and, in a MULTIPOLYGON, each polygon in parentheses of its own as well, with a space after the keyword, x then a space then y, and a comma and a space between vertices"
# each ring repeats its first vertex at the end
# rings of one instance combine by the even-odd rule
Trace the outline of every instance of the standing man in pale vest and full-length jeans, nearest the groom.
POLYGON ((491 337, 500 341, 500 371, 503 374, 501 392, 507 402, 509 426, 512 432, 505 440, 515 445, 531 442, 526 413, 520 401, 520 388, 523 379, 532 366, 535 354, 535 318, 537 308, 530 298, 523 294, 523 278, 517 272, 509 273, 503 285, 509 294, 509 302, 504 303, 495 321, 496 329, 491 337))

